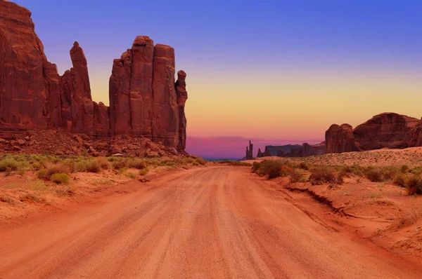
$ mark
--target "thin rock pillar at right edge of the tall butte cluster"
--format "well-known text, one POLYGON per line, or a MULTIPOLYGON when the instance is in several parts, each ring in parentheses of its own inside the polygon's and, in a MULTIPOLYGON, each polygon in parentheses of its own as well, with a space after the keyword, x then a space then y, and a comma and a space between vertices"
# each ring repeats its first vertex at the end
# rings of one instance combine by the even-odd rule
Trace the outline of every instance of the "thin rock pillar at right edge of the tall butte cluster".
POLYGON ((184 71, 177 72, 177 81, 174 85, 177 93, 177 105, 179 106, 179 144, 177 149, 183 151, 186 148, 186 115, 184 107, 188 100, 186 91, 186 73, 184 71))

